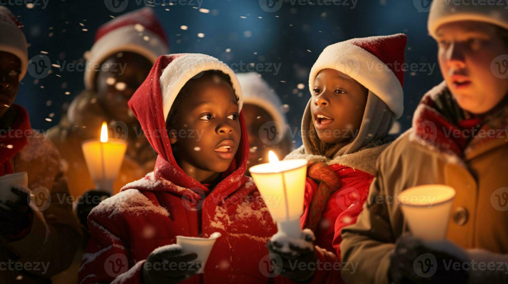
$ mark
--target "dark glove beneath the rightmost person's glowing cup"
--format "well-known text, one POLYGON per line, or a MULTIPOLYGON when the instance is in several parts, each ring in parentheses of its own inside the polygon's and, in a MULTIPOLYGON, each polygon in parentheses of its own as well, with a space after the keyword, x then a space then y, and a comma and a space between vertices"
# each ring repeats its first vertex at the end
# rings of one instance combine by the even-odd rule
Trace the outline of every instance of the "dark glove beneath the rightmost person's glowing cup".
POLYGON ((390 256, 391 283, 466 283, 468 271, 462 269, 467 257, 450 241, 422 241, 400 237, 390 256), (460 267, 453 266, 460 263, 460 267))

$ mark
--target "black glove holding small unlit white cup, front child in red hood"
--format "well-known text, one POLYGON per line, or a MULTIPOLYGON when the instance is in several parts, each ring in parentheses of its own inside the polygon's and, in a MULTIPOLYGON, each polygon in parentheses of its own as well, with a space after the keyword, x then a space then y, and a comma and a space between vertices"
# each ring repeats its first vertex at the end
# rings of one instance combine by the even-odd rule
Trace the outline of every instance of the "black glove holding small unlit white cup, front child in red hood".
POLYGON ((178 244, 166 249, 157 248, 147 258, 142 268, 143 284, 178 283, 194 276, 200 264, 193 262, 195 253, 182 253, 178 244))

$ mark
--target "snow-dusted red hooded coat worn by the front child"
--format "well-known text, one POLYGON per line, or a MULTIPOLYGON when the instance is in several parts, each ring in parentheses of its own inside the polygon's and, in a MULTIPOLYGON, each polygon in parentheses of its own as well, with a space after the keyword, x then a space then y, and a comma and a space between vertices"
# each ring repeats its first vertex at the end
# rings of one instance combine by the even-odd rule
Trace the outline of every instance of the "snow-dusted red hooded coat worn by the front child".
MULTIPOLYGON (((148 78, 157 72, 158 64, 160 59, 148 78)), ((141 283, 141 267, 155 248, 175 243, 177 235, 209 237, 213 232, 222 236, 213 246, 204 273, 185 283, 288 282, 267 276, 266 242, 277 229, 256 186, 244 175, 249 147, 243 114, 239 116, 242 139, 236 157, 223 173, 224 180, 209 189, 186 175, 173 158, 160 87, 154 81, 147 79, 129 103, 159 154, 154 171, 90 212, 91 238, 79 272, 81 283, 141 283)), ((318 255, 321 261, 337 260, 321 252, 318 255)), ((312 282, 332 282, 337 276, 318 271, 312 282)))

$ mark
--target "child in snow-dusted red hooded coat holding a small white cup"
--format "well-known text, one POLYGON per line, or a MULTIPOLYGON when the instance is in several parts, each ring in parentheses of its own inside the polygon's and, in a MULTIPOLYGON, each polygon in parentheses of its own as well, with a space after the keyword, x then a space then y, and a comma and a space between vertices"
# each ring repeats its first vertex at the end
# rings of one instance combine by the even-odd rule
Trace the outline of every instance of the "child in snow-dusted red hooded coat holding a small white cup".
MULTIPOLYGON (((90 212, 82 284, 289 281, 274 277, 279 271, 270 265, 266 242, 276 226, 245 176, 249 147, 242 103, 233 71, 216 58, 157 59, 129 101, 157 162, 144 179, 90 212), (182 252, 176 236, 207 238, 214 232, 221 237, 204 273, 196 274, 195 252, 182 252)), ((333 282, 337 276, 320 271, 311 281, 333 282)))

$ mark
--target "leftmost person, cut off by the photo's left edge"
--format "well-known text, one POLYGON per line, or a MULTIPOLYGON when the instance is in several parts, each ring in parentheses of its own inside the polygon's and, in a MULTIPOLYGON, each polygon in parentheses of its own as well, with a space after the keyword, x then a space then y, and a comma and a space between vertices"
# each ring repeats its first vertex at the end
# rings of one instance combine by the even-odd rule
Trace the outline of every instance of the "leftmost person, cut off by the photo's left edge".
POLYGON ((0 37, 0 178, 22 172, 28 178, 27 187, 6 189, 5 180, 0 182, 0 262, 15 260, 23 267, 48 264, 45 269, 31 271, 4 266, 0 279, 8 283, 47 282, 69 266, 82 235, 71 204, 56 198, 69 194, 61 178, 58 150, 30 128, 28 113, 14 103, 26 74, 27 43, 20 23, 4 6, 0 6, 0 30, 4 35, 0 37), (29 204, 30 190, 39 199, 29 204))

